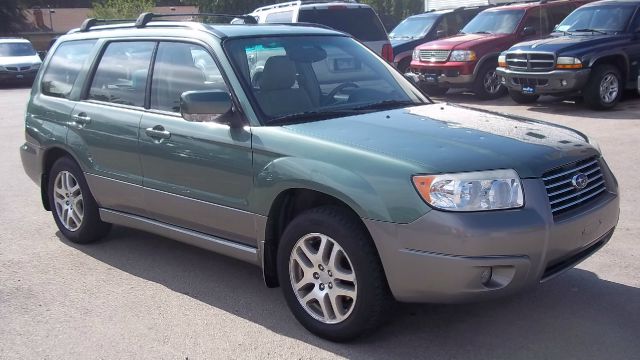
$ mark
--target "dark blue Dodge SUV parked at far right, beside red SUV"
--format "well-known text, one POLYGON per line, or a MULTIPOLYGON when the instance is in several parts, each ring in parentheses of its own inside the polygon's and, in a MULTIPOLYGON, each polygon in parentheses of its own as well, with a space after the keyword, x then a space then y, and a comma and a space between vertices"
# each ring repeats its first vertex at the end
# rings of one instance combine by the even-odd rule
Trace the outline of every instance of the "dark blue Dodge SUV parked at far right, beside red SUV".
POLYGON ((513 46, 497 72, 517 103, 578 94, 607 110, 638 87, 639 62, 640 1, 605 0, 574 11, 551 37, 513 46))

